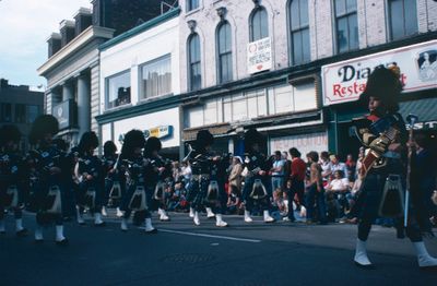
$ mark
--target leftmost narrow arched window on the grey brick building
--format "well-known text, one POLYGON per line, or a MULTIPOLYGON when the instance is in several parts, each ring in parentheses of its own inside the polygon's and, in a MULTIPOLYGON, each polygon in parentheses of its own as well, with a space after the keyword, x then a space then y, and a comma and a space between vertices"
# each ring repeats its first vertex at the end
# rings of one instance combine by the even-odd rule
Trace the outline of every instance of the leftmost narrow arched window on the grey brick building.
POLYGON ((188 86, 190 87, 190 91, 198 91, 202 85, 202 72, 200 67, 200 39, 198 34, 191 35, 188 39, 188 86))

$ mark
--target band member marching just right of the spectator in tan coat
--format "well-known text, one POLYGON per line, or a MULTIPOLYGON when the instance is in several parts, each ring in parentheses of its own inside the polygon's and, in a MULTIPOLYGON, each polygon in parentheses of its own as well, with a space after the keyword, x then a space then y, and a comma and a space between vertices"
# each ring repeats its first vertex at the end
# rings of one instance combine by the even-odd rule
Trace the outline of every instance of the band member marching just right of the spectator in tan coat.
POLYGON ((271 202, 265 189, 265 186, 268 186, 269 164, 265 156, 260 152, 262 141, 262 134, 255 129, 249 129, 245 134, 245 167, 247 168, 247 175, 245 177, 243 199, 246 206, 246 223, 252 222, 250 213, 256 204, 262 208, 265 223, 274 222, 274 218, 269 213, 271 202))

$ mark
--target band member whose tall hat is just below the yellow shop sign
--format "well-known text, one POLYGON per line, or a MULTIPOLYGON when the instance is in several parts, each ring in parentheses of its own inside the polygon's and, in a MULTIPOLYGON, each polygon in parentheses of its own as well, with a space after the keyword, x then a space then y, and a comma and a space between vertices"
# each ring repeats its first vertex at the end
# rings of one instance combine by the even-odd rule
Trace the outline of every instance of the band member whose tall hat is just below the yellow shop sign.
POLYGON ((149 162, 145 175, 145 192, 147 194, 149 208, 156 211, 160 215, 160 221, 168 222, 165 211, 166 189, 172 184, 172 165, 165 162, 160 156, 158 152, 162 148, 161 140, 154 136, 147 139, 144 147, 144 158, 149 162))

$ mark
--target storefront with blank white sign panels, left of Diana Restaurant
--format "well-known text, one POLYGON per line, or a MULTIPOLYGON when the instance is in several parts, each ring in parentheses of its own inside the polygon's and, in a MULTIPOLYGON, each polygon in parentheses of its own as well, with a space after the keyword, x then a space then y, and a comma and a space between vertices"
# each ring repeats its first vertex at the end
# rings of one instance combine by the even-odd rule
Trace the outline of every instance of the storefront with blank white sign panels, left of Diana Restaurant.
POLYGON ((243 155, 244 133, 256 128, 265 136, 262 151, 267 154, 291 147, 303 154, 327 150, 318 76, 262 76, 274 82, 252 80, 250 86, 240 83, 225 93, 209 91, 187 100, 182 141, 190 143, 197 131, 209 129, 215 136, 214 150, 243 155))

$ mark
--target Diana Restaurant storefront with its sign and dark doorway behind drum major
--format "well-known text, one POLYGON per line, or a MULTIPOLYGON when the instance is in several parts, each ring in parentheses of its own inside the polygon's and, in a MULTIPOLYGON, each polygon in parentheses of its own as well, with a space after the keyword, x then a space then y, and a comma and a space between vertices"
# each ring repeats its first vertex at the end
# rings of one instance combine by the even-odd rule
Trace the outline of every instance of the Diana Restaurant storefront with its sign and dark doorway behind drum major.
POLYGON ((353 118, 366 114, 357 102, 375 67, 395 62, 404 84, 400 114, 418 116, 415 129, 437 128, 437 40, 386 50, 322 67, 323 105, 329 121, 329 148, 341 157, 357 154, 353 118))

